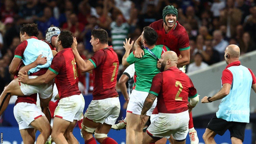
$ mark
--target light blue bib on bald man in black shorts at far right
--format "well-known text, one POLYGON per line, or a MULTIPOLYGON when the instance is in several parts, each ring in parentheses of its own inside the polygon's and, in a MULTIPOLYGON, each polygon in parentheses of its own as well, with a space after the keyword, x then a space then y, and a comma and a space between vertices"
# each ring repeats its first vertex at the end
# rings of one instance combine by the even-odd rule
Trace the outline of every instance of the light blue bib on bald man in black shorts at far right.
POLYGON ((231 66, 228 70, 233 74, 231 90, 221 100, 216 116, 227 121, 249 123, 252 75, 248 68, 242 65, 231 66))

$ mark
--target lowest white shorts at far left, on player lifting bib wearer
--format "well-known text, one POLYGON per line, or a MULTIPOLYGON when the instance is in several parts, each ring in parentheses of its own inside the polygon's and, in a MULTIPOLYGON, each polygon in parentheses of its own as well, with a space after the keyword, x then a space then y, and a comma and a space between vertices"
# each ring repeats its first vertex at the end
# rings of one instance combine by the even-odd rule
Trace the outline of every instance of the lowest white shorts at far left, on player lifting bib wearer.
POLYGON ((27 102, 19 102, 16 104, 13 108, 13 114, 19 124, 19 130, 34 128, 30 123, 41 116, 45 116, 45 114, 39 110, 35 104, 27 102))

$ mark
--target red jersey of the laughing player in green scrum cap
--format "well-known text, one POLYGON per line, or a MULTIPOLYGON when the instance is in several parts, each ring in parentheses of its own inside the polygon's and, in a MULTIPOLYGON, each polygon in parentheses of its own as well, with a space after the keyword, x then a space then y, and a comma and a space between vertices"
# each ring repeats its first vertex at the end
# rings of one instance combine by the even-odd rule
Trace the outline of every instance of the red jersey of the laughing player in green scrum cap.
POLYGON ((156 45, 165 45, 170 50, 174 51, 178 56, 181 50, 187 50, 189 46, 189 38, 186 29, 176 21, 174 28, 167 34, 164 30, 164 21, 160 19, 149 25, 158 34, 156 45))

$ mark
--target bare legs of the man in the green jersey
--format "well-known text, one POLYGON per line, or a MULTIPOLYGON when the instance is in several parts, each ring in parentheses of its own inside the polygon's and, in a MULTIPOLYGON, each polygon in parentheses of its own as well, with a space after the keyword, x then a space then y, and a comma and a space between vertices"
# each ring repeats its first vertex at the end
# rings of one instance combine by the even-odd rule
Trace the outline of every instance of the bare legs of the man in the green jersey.
MULTIPOLYGON (((149 116, 145 116, 146 121, 149 116)), ((141 144, 143 139, 144 125, 139 125, 140 115, 126 112, 126 143, 141 144)))

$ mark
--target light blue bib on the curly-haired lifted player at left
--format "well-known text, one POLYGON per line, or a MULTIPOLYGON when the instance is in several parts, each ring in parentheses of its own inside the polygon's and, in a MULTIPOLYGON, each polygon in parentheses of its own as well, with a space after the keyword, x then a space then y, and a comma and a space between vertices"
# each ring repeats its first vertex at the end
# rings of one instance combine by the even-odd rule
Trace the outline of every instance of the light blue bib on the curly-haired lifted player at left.
POLYGON ((28 44, 22 57, 25 65, 33 63, 40 54, 42 54, 42 57, 47 57, 46 64, 38 65, 35 68, 30 69, 28 75, 39 71, 41 68, 49 68, 53 58, 50 46, 42 40, 35 38, 27 39, 27 42, 28 44))

